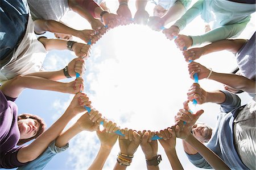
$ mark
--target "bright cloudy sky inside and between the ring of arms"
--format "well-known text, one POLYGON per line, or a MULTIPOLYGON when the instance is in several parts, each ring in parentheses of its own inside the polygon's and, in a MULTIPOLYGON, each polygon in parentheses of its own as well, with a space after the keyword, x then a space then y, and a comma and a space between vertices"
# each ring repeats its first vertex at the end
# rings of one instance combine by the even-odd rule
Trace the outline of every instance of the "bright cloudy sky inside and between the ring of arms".
MULTIPOLYGON (((192 2, 192 4, 195 1, 192 2)), ((108 1, 112 13, 117 10, 117 1, 108 1)), ((135 14, 134 1, 129 2, 135 14)), ((148 3, 147 11, 152 14, 153 5, 148 3)), ((65 22, 77 29, 89 29, 89 24, 75 13, 69 13, 65 22)), ((255 31, 255 14, 241 38, 249 39, 255 31)), ((181 34, 203 34, 204 23, 196 18, 181 34)), ((47 34, 49 38, 52 34, 47 34)), ((77 40, 77 39, 75 39, 77 40)), ((75 56, 70 51, 51 51, 44 66, 47 70, 62 69, 75 56)), ((235 68, 234 55, 229 52, 213 53, 197 60, 217 72, 230 72, 235 68)), ((147 26, 129 25, 110 30, 92 47, 92 54, 86 61, 85 93, 92 105, 106 118, 113 119, 121 128, 135 130, 161 130, 174 122, 174 115, 182 107, 186 93, 193 81, 189 78, 187 63, 174 42, 167 40, 162 32, 152 31, 147 26)), ((71 79, 70 81, 72 81, 71 79)), ((69 80, 65 80, 69 81, 69 80)), ((206 90, 223 89, 221 84, 210 80, 200 81, 206 90)), ((64 113, 73 98, 72 95, 26 89, 17 99, 19 113, 38 114, 49 126, 64 113)), ((250 98, 242 94, 243 103, 250 98)), ((199 119, 214 127, 218 106, 205 104, 199 119)), ((72 123, 75 120, 72 121, 72 123)), ((93 162, 100 144, 96 133, 81 132, 69 143, 69 149, 57 154, 46 169, 86 169, 93 162)), ((185 169, 195 169, 185 156, 181 140, 177 139, 176 150, 185 169)), ((105 169, 112 169, 119 152, 115 144, 105 169)), ((158 147, 163 161, 160 169, 170 169, 164 150, 158 147)), ((127 169, 145 169, 146 161, 139 147, 133 163, 127 169)))

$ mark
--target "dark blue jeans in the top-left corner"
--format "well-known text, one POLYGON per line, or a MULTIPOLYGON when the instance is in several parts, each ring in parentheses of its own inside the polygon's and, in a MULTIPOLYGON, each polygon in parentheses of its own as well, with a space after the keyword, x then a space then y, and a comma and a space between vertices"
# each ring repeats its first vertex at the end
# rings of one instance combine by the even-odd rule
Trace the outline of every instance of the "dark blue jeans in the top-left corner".
POLYGON ((29 7, 26 0, 1 0, 0 60, 13 53, 27 27, 29 7))

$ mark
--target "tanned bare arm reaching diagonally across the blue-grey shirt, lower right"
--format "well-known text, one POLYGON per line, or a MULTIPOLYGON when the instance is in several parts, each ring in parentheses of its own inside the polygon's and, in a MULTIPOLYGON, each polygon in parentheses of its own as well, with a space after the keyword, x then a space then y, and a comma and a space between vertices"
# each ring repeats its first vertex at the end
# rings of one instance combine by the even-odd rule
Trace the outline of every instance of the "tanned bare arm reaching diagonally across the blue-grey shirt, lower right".
POLYGON ((187 128, 181 130, 180 126, 175 128, 176 135, 178 138, 185 140, 193 148, 195 148, 200 155, 204 157, 205 160, 212 166, 213 169, 230 169, 228 165, 224 163, 213 151, 209 150, 208 147, 204 146, 199 140, 197 140, 187 128))

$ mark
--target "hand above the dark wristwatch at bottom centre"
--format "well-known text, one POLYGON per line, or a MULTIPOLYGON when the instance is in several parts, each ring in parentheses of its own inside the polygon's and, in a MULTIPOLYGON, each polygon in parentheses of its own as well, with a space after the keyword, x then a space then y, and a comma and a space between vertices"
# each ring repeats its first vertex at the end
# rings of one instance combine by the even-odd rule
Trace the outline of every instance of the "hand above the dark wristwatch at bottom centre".
POLYGON ((155 132, 151 131, 139 131, 139 134, 142 136, 141 148, 144 152, 145 158, 151 160, 158 155, 158 141, 151 140, 152 136, 155 135, 155 132))

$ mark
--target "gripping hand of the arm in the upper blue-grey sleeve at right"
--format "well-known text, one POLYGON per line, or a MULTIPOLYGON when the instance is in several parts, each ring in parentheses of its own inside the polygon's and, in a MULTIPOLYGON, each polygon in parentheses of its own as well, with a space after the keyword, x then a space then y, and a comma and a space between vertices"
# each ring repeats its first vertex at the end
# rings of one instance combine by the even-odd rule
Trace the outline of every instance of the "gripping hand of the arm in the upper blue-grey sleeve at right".
POLYGON ((193 83, 187 93, 187 96, 189 101, 196 99, 197 103, 201 105, 207 102, 208 92, 202 89, 199 84, 193 83))

